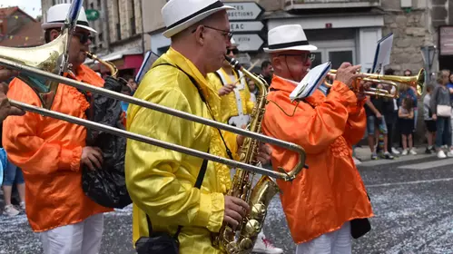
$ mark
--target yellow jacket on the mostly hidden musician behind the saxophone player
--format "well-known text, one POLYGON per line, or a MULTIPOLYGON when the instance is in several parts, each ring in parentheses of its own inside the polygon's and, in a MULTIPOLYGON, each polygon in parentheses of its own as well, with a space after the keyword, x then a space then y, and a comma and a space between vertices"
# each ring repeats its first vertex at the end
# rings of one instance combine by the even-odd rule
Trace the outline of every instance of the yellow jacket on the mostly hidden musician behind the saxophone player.
MULTIPOLYGON (((216 73, 208 73, 208 80, 218 92, 224 83, 235 83, 242 76, 242 73, 238 73, 236 70, 233 70, 233 73, 235 78, 231 79, 231 76, 221 68, 216 73)), ((232 124, 234 120, 231 118, 239 116, 240 110, 243 115, 251 115, 254 103, 251 102, 251 94, 245 77, 241 79, 241 82, 236 83, 236 89, 233 92, 222 96, 221 105, 222 116, 219 121, 232 124), (239 105, 241 108, 238 107, 239 105)))

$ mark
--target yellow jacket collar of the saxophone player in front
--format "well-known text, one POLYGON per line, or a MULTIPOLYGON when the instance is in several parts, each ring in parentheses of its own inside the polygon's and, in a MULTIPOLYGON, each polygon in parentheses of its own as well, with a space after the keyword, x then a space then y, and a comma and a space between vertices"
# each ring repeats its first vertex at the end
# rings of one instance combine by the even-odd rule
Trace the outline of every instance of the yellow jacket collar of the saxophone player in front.
POLYGON ((156 61, 153 66, 158 64, 172 64, 177 65, 180 67, 185 73, 191 75, 195 81, 200 86, 203 95, 206 97, 208 101, 211 100, 221 100, 221 97, 218 95, 217 91, 212 87, 210 83, 208 83, 206 77, 200 73, 198 68, 193 64, 189 59, 183 56, 181 53, 174 50, 172 47, 167 51, 167 53, 162 54, 160 58, 161 61, 156 61))

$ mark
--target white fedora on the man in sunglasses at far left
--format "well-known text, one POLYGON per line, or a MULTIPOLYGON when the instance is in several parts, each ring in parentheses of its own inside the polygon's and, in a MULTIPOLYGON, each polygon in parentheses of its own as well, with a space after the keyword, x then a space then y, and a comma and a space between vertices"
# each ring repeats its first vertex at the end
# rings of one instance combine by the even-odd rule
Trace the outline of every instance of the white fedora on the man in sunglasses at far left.
MULTIPOLYGON (((61 5, 54 5, 47 10, 47 20, 44 24, 41 24, 41 27, 44 30, 49 28, 61 28, 64 24, 64 20, 69 12, 69 7, 71 4, 61 4, 61 5)), ((88 20, 86 19, 86 14, 84 7, 80 9, 79 17, 77 18, 77 27, 84 28, 90 32, 97 33, 96 30, 90 27, 88 24, 88 20)))

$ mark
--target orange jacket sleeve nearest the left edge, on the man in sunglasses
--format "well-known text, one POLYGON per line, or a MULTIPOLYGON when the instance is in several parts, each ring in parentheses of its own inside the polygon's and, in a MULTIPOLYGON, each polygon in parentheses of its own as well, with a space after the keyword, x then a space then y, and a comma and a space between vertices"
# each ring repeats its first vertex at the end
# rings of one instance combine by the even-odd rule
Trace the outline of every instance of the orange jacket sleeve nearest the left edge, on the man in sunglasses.
MULTIPOLYGON (((22 81, 10 83, 8 98, 41 106, 37 95, 22 81)), ((24 116, 8 117, 3 127, 3 145, 8 159, 29 174, 48 174, 54 171, 78 171, 82 147, 68 150, 59 143, 48 143, 40 137, 43 116, 26 112, 24 116)), ((50 133, 50 135, 52 135, 50 133)))

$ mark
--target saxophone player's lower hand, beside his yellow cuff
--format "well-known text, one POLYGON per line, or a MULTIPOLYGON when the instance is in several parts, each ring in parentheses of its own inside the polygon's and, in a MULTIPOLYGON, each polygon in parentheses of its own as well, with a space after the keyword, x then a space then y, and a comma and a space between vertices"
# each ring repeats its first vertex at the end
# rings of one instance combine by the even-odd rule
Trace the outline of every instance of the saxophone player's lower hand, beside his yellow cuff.
POLYGON ((223 222, 230 225, 233 229, 239 226, 242 218, 249 212, 249 205, 241 199, 225 196, 225 210, 223 213, 223 222))

